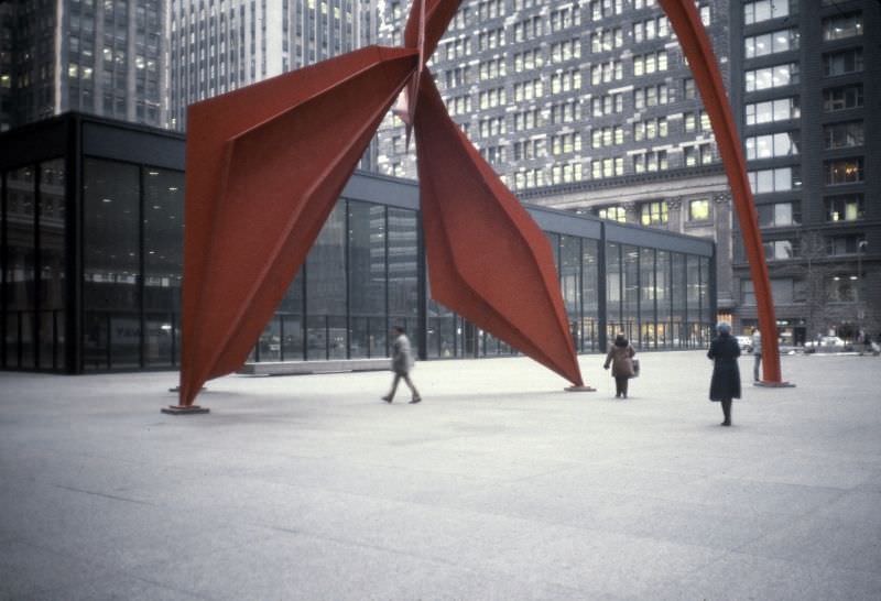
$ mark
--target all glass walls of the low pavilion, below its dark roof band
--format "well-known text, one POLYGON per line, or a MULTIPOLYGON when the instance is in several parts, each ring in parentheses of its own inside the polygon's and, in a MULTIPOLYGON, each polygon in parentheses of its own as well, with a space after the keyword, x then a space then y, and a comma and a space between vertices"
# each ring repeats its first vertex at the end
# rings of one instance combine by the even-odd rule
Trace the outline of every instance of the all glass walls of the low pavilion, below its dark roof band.
MULTIPOLYGON (((81 369, 180 363, 184 174, 85 157, 81 369)), ((65 173, 62 160, 3 174, 2 365, 65 369, 65 173)), ((547 232, 579 352, 607 334, 641 348, 709 338, 710 260, 547 232)), ((388 331, 420 345, 421 249, 414 210, 341 199, 251 353, 254 361, 387 357, 388 331)), ((447 307, 427 302, 429 358, 514 351, 447 307)), ((418 347, 416 347, 418 348, 418 347)))

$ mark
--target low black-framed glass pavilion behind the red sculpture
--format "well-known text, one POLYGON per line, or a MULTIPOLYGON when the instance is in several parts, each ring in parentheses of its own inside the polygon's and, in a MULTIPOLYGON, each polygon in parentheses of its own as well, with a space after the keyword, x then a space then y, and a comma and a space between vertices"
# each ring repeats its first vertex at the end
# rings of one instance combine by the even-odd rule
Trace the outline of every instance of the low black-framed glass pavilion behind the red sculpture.
MULTIPOLYGON (((79 114, 0 134, 0 367, 178 364, 184 155, 182 135, 79 114)), ((641 349, 708 342, 710 241, 527 208, 579 352, 619 331, 641 349)), ((385 357, 394 325, 424 359, 513 352, 431 299, 417 184, 356 173, 249 361, 385 357)))

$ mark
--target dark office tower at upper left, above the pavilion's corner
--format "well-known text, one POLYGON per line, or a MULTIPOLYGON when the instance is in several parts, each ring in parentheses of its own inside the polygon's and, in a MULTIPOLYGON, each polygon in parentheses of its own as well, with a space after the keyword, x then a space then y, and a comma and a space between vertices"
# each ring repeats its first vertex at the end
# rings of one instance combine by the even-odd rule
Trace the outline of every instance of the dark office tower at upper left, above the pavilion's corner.
POLYGON ((68 110, 164 127, 164 4, 0 2, 0 129, 68 110))

